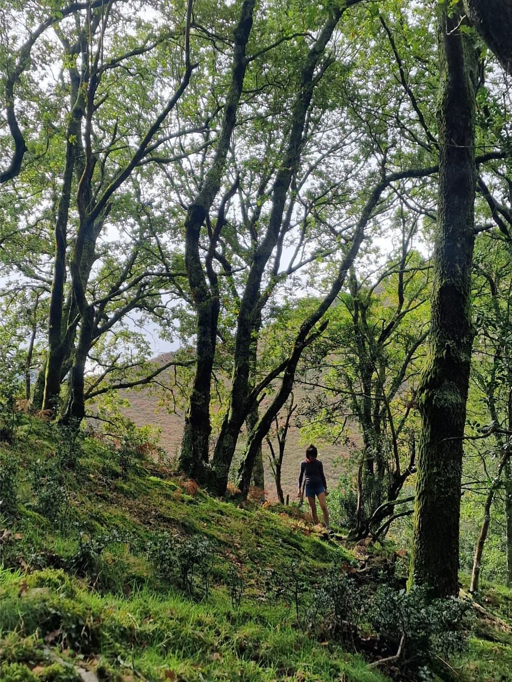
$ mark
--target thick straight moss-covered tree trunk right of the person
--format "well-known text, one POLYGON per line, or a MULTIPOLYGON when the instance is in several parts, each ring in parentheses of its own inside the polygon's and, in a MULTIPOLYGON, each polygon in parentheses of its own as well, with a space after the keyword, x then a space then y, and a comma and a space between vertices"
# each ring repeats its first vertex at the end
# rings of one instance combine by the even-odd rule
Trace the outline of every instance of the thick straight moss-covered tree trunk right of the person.
MULTIPOLYGON (((442 10, 440 10, 442 12, 442 10)), ((439 188, 429 353, 418 406, 422 425, 410 584, 458 595, 459 511, 473 330, 474 110, 478 55, 457 12, 438 27, 439 188)))

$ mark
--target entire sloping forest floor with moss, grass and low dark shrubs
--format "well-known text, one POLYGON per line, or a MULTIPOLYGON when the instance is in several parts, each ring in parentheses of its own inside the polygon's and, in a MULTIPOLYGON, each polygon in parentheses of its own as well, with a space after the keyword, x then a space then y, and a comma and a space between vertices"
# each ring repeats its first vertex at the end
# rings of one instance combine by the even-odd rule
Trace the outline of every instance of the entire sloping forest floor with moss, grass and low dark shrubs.
POLYGON ((1 444, 2 682, 512 680, 512 592, 427 604, 408 555, 214 499, 149 447, 1 444))

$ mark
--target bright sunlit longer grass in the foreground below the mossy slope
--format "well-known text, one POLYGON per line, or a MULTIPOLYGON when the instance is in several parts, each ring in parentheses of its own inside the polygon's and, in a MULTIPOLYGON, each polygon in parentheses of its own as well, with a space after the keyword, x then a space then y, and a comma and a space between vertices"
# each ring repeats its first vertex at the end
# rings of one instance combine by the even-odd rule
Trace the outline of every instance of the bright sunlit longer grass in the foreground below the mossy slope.
POLYGON ((133 668, 147 679, 168 670, 187 680, 383 679, 358 656, 315 642, 286 606, 233 610, 221 589, 197 604, 151 589, 101 595, 55 569, 3 570, 0 597, 4 662, 41 662, 57 647, 79 665, 100 655, 113 677, 133 668))

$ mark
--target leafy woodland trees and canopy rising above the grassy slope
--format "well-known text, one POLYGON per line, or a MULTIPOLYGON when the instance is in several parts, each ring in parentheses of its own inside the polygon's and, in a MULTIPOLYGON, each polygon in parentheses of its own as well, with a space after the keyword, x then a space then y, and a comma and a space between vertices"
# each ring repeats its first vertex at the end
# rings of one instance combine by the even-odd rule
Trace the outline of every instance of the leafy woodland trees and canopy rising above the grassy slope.
POLYGON ((409 587, 459 593, 461 506, 472 590, 491 537, 510 584, 511 35, 504 0, 1 3, 3 438, 21 400, 119 439, 148 387, 244 498, 293 417, 352 443, 351 537, 414 505, 409 587))

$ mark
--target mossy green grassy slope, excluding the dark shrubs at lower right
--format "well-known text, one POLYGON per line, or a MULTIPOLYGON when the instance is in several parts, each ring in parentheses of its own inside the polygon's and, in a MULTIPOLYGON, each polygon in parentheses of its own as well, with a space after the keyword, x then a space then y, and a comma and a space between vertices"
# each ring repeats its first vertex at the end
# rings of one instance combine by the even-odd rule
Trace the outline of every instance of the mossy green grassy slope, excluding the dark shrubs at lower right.
MULTIPOLYGON (((147 462, 122 481, 95 441, 66 477, 63 506, 57 486, 43 516, 58 447, 37 421, 18 429, 14 447, 2 445, 4 462, 21 467, 18 509, 0 528, 2 682, 388 679, 332 633, 307 627, 302 583, 314 588, 333 561, 343 572, 370 566, 366 548, 328 542, 280 507, 212 499, 147 462), (182 587, 176 557, 191 538, 207 542, 203 557, 211 549, 208 593, 200 566, 190 590, 182 587)), ((511 594, 487 595, 485 608, 510 622, 511 594)), ((511 679, 506 625, 487 618, 479 627, 459 679, 511 679)))

